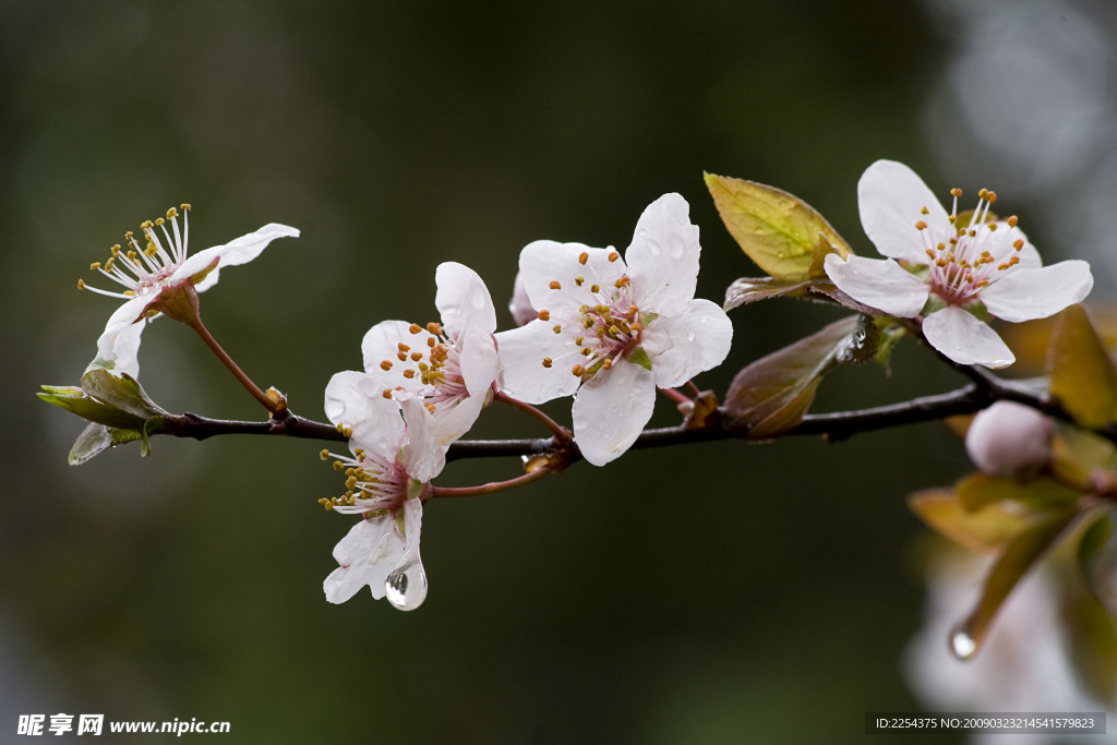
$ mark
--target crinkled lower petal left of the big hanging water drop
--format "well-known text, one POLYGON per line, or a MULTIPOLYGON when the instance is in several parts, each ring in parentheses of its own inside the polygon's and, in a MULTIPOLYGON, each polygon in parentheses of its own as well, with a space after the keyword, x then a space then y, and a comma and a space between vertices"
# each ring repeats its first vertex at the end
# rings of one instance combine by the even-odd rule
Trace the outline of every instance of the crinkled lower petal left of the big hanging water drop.
POLYGON ((364 585, 369 585, 373 598, 383 598, 384 581, 399 564, 403 550, 403 536, 391 515, 362 519, 334 546, 338 566, 323 582, 326 600, 344 603, 364 585))

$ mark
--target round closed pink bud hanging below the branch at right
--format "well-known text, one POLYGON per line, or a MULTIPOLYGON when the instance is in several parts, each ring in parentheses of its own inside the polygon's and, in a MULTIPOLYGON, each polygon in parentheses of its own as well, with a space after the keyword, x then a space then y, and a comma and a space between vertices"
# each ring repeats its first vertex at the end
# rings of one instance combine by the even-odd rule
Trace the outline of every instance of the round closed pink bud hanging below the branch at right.
POLYGON ((1031 407, 997 401, 966 433, 970 459, 990 476, 1020 476, 1051 461, 1051 421, 1031 407))

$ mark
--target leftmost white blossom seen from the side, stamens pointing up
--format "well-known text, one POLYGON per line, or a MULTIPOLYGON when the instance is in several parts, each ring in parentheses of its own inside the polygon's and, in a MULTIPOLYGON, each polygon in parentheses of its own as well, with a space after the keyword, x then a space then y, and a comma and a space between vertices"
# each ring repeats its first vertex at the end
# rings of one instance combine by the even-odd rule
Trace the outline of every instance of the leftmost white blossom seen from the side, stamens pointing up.
POLYGON ((140 247, 130 230, 124 235, 127 241, 125 248, 113 246, 109 249, 111 256, 104 264, 97 261, 89 267, 122 285, 123 292, 97 289, 78 280, 82 289, 126 300, 109 316, 105 331, 97 340, 97 356, 89 364, 90 370, 104 367, 114 373, 139 376, 140 362, 136 355, 140 352, 140 335, 146 319, 159 315, 154 306, 164 290, 190 284, 195 292, 204 292, 217 284, 221 267, 247 264, 276 238, 298 236, 297 229, 273 222, 225 246, 213 246, 188 256, 189 211, 190 206, 183 204, 181 231, 178 210, 171 208, 166 211, 165 220, 147 220, 140 226, 146 239, 144 248, 140 247), (170 231, 168 223, 171 226, 170 231), (162 233, 162 239, 159 233, 162 233))

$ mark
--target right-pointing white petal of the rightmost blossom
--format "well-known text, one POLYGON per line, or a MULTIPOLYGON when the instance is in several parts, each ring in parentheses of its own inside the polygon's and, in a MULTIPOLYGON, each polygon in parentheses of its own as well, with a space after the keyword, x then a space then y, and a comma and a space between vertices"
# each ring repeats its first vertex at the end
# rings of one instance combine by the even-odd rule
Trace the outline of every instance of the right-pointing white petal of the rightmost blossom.
POLYGON ((1092 288, 1090 265, 1071 259, 1039 269, 1009 269, 980 298, 997 318, 1019 323, 1054 315, 1082 302, 1092 288))

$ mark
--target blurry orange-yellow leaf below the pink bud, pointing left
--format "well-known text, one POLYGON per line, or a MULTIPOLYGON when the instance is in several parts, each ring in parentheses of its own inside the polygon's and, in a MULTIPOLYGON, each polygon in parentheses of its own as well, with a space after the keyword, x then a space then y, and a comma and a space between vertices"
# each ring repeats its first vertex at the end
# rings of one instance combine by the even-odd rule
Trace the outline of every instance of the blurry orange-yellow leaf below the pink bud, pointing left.
POLYGON ((927 527, 974 553, 996 551, 1029 525, 1028 517, 1002 504, 971 513, 952 489, 917 491, 908 507, 927 527))

